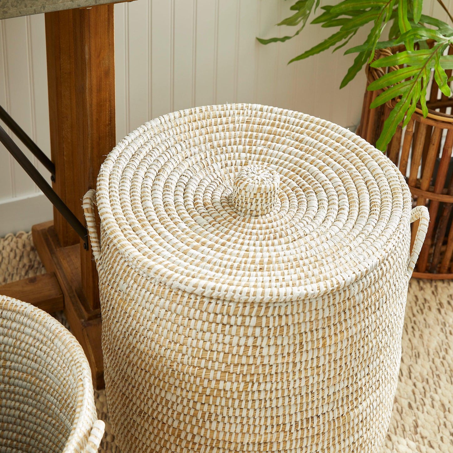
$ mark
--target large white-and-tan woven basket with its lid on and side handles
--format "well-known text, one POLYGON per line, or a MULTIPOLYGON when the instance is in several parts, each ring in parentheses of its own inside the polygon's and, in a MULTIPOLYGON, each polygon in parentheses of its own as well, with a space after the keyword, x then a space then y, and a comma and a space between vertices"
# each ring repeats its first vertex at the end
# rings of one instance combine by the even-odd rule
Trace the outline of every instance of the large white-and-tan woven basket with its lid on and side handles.
POLYGON ((122 453, 379 451, 428 226, 381 152, 294 111, 178 111, 84 210, 122 453))

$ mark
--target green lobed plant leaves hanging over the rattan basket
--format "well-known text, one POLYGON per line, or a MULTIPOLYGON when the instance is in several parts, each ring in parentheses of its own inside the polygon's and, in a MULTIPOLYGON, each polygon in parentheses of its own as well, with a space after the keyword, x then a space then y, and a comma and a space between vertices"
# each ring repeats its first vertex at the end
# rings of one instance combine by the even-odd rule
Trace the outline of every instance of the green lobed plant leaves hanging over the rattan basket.
MULTIPOLYGON (((442 0, 437 1, 453 21, 442 0)), ((422 14, 422 6, 423 0, 343 0, 336 5, 321 6, 320 14, 311 23, 320 24, 323 28, 334 28, 335 32, 289 61, 303 60, 329 48, 333 48, 335 52, 346 46, 359 29, 368 27, 370 31, 365 42, 345 52, 355 53, 356 58, 347 70, 340 88, 351 82, 366 63, 371 63, 372 67, 398 67, 368 86, 368 90, 383 90, 373 101, 371 108, 391 99, 398 99, 376 143, 376 147, 381 150, 387 148, 397 126, 400 123, 404 126, 409 122, 418 103, 424 116, 428 114, 426 90, 432 72, 439 89, 446 96, 451 96, 445 71, 453 69, 453 55, 445 53, 453 43, 453 28, 442 20, 422 14), (388 38, 384 40, 381 38, 385 29, 388 30, 388 38), (376 49, 400 44, 405 45, 404 52, 373 61, 376 49)), ((291 36, 258 38, 258 41, 268 44, 293 38, 304 29, 308 18, 316 14, 318 7, 319 0, 296 1, 290 8, 294 14, 278 25, 296 26, 297 31, 291 36)))

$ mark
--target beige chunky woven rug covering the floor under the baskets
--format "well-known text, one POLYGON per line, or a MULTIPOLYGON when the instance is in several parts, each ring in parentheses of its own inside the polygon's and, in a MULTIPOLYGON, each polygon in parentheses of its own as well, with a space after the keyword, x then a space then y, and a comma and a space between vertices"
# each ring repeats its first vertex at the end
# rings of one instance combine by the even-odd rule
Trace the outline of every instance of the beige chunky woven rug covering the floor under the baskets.
MULTIPOLYGON (((44 272, 30 233, 0 239, 0 284, 44 272)), ((63 313, 55 317, 66 325, 63 313)), ((120 453, 109 423, 105 391, 96 391, 106 422, 100 452, 120 453)), ((453 452, 453 281, 411 280, 400 381, 381 453, 453 452)))

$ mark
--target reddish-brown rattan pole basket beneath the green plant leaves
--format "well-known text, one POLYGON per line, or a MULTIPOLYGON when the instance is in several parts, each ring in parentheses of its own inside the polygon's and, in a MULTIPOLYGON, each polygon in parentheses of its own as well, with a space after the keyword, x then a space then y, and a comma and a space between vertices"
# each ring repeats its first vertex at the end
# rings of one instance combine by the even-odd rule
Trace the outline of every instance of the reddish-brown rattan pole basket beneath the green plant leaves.
MULTIPOLYGON (((404 46, 377 50, 375 60, 405 50, 404 46)), ((453 47, 449 48, 453 53, 453 47)), ((398 67, 366 67, 367 84, 385 72, 398 67)), ((451 70, 447 71, 451 76, 451 70)), ((371 102, 382 90, 364 96, 361 124, 357 134, 371 144, 376 144, 384 121, 395 105, 396 99, 370 110, 371 102)), ((414 277, 429 279, 453 278, 453 99, 439 91, 434 76, 428 90, 429 113, 423 117, 417 108, 409 124, 398 126, 387 147, 386 154, 406 177, 414 206, 427 206, 429 223, 426 240, 420 251, 414 277)), ((416 225, 414 224, 416 229, 416 225)), ((414 241, 414 233, 412 236, 414 241)))

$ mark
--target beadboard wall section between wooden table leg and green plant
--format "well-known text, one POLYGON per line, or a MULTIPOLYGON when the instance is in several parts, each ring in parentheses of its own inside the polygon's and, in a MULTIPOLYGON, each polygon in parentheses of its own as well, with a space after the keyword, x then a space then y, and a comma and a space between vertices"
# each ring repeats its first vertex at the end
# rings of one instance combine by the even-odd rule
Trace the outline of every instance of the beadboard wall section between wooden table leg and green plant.
POLYGON ((115 6, 116 131, 191 106, 256 102, 322 116, 345 126, 360 119, 364 77, 338 87, 353 56, 288 61, 327 37, 311 27, 284 44, 256 36, 293 29, 275 23, 283 0, 138 0, 115 6))

